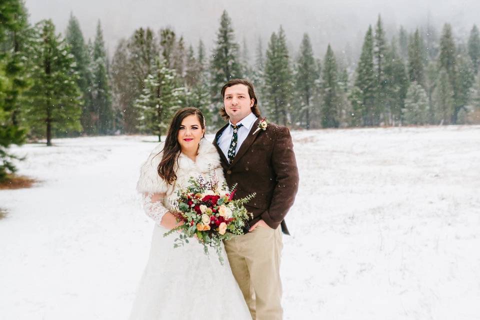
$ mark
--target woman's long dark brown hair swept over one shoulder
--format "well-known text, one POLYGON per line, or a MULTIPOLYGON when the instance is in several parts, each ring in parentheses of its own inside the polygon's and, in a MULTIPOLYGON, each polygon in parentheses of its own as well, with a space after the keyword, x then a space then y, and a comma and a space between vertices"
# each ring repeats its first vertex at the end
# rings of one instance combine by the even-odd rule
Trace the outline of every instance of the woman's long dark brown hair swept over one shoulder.
MULTIPOLYGON (((166 133, 165 144, 160 152, 163 152, 161 161, 156 168, 158 175, 161 176, 168 184, 172 184, 176 180, 175 161, 178 165, 178 155, 181 147, 178 143, 178 130, 180 129, 181 121, 189 115, 196 115, 202 129, 205 128, 205 118, 201 111, 194 107, 186 107, 176 111, 171 119, 168 132, 166 133)), ((160 153, 158 153, 160 154, 160 153)), ((157 155, 158 155, 157 154, 157 155)))

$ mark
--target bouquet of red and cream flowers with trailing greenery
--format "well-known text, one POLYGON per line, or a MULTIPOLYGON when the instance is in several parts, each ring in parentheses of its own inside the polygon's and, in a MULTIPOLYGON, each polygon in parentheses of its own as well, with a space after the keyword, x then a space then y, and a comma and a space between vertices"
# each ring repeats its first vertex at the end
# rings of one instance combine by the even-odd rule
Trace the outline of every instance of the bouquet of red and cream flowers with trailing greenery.
POLYGON ((243 204, 252 199, 255 193, 233 200, 235 186, 229 191, 226 183, 219 185, 214 174, 209 176, 208 181, 199 176, 196 179, 190 177, 188 182, 190 184, 187 187, 178 190, 178 198, 172 205, 172 213, 178 222, 183 223, 163 236, 180 231, 179 237, 174 240, 174 247, 184 245, 189 238, 196 237, 203 244, 205 254, 208 254, 209 246, 215 248, 218 259, 223 264, 221 241, 243 234, 243 228, 251 215, 243 204))

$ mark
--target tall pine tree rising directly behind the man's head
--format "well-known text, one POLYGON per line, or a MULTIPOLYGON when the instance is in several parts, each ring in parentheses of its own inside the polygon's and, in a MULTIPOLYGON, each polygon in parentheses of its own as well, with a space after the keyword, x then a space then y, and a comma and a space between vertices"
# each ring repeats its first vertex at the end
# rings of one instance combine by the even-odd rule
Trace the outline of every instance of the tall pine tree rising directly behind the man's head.
POLYGON ((238 63, 239 47, 235 42, 231 20, 226 10, 220 18, 213 56, 210 60, 210 85, 212 102, 221 101, 220 88, 230 79, 241 77, 238 63))

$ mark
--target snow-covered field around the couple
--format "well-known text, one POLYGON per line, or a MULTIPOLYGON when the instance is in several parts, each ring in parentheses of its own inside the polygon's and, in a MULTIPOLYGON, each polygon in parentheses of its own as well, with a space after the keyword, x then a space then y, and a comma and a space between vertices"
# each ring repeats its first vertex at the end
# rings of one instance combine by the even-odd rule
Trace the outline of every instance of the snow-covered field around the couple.
MULTIPOLYGON (((480 126, 292 134, 285 318, 480 318, 480 126)), ((153 226, 135 194, 151 141, 13 148, 41 182, 0 190, 1 320, 127 317, 153 226)))

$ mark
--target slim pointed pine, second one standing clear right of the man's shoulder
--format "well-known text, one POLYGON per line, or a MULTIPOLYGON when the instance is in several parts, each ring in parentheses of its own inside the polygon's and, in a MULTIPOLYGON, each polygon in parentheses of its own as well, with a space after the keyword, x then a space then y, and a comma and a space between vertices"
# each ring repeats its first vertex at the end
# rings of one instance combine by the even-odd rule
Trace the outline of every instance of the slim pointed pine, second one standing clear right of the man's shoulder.
POLYGON ((330 44, 328 44, 323 60, 321 91, 323 96, 321 124, 323 127, 338 127, 338 104, 340 101, 338 96, 338 69, 330 44))

